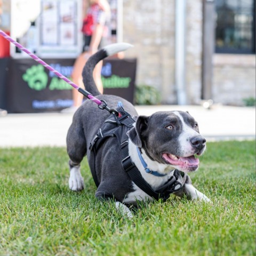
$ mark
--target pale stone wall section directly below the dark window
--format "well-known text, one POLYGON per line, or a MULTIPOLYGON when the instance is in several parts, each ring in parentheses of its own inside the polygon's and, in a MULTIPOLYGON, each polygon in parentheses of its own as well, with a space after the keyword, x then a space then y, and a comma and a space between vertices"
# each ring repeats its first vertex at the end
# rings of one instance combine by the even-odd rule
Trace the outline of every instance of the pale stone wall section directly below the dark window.
POLYGON ((215 54, 213 63, 214 102, 241 106, 255 98, 255 55, 215 54))

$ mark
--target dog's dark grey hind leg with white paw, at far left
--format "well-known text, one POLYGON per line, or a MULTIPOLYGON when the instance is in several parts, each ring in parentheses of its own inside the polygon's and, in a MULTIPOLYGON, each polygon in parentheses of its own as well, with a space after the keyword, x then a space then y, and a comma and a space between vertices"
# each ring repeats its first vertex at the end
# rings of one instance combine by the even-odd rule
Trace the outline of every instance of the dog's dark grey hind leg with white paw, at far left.
POLYGON ((69 188, 73 191, 84 189, 84 179, 80 172, 80 163, 86 155, 86 141, 82 126, 72 124, 67 135, 67 151, 69 155, 69 188), (73 126, 73 127, 72 127, 73 126))

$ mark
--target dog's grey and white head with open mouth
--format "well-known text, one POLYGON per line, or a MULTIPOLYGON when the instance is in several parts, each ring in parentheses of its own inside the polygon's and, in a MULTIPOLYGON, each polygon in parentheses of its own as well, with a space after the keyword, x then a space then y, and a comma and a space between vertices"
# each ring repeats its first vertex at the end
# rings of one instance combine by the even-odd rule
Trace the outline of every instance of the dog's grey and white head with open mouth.
POLYGON ((198 124, 187 112, 162 111, 139 116, 129 138, 145 149, 148 157, 183 172, 196 171, 206 140, 199 134, 198 124))

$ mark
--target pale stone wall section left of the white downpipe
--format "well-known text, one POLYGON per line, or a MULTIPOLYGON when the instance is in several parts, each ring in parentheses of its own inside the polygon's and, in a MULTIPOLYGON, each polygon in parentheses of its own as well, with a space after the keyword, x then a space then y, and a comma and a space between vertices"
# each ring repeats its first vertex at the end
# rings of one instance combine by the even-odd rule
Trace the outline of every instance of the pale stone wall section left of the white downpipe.
POLYGON ((175 102, 174 0, 123 0, 123 38, 134 45, 126 57, 138 58, 137 84, 156 87, 162 101, 175 102))

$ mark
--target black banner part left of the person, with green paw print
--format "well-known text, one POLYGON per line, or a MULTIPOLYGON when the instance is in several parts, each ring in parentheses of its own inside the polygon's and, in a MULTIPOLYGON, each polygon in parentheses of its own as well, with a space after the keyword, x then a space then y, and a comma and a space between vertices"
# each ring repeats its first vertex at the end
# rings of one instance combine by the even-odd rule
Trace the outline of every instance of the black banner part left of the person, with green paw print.
MULTIPOLYGON (((47 59, 51 67, 70 78, 73 59, 47 59)), ((7 87, 10 113, 58 111, 72 105, 72 87, 41 64, 30 59, 12 59, 7 87)))

